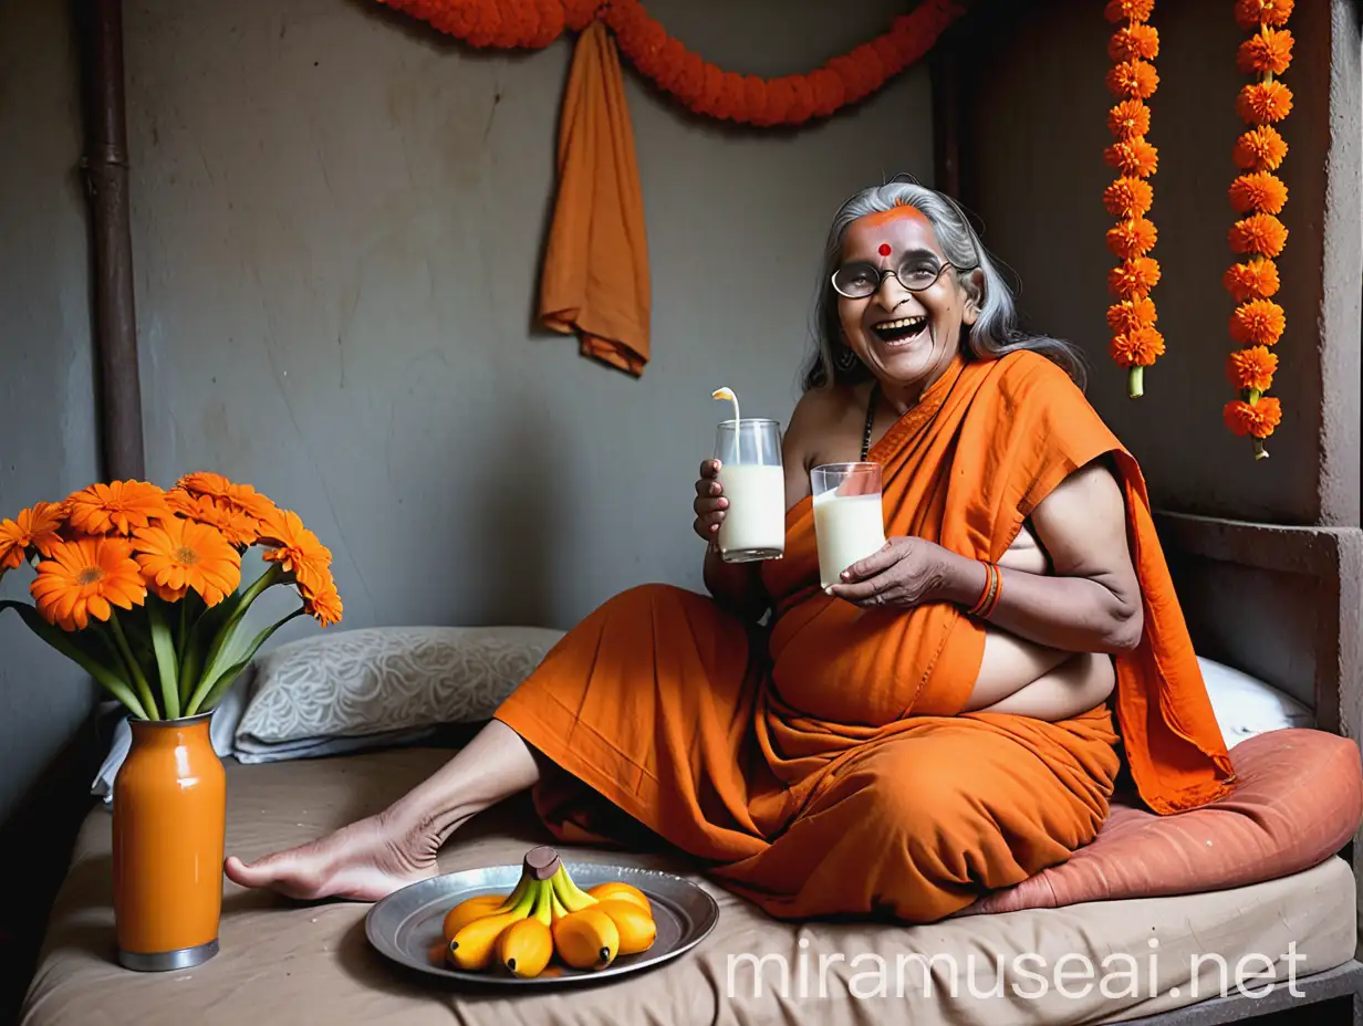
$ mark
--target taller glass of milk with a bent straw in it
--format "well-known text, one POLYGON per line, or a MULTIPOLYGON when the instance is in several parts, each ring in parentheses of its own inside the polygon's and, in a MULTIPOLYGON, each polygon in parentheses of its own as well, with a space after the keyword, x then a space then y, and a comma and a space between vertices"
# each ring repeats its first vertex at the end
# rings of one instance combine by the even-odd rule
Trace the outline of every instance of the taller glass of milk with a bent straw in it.
POLYGON ((720 488, 729 500, 720 522, 720 557, 751 563, 785 555, 785 471, 778 421, 721 421, 714 443, 720 488))

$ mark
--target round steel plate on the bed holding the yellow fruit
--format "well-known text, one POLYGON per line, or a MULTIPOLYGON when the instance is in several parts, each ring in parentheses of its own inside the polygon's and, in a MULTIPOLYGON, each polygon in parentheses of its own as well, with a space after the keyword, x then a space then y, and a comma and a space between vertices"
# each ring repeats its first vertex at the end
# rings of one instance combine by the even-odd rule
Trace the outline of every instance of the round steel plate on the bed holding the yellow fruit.
POLYGON ((481 973, 455 969, 444 959, 440 927, 446 913, 480 894, 510 894, 521 879, 519 864, 446 873, 394 891, 369 909, 364 921, 365 936, 394 962, 421 973, 478 985, 545 986, 600 982, 650 969, 699 944, 720 918, 720 906, 714 898, 682 876, 609 862, 564 865, 582 890, 622 880, 643 891, 653 906, 653 921, 658 928, 653 947, 635 955, 620 955, 611 966, 600 970, 571 969, 555 959, 544 973, 529 980, 514 977, 499 967, 481 973))

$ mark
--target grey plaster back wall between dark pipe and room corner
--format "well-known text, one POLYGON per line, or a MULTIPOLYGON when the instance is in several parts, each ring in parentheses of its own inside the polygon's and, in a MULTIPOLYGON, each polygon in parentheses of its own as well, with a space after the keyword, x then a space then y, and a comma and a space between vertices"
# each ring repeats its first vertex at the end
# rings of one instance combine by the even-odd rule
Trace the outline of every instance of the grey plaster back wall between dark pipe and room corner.
MULTIPOLYGON (((774 75, 901 4, 649 10, 774 75)), ((639 582, 702 587, 711 390, 786 421, 833 213, 932 170, 925 69, 816 127, 739 131, 627 65, 654 301, 632 380, 532 326, 567 38, 476 53, 364 0, 134 0, 127 34, 149 473, 297 510, 346 625, 567 627, 639 582)))

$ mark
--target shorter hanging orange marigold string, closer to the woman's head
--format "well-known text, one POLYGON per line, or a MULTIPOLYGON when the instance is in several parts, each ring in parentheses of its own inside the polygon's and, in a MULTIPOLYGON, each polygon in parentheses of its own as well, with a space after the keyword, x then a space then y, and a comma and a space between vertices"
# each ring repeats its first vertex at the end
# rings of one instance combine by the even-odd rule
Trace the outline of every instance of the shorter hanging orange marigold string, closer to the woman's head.
POLYGON ((1159 241, 1154 222, 1146 215, 1154 204, 1150 178, 1159 168, 1159 150, 1145 136, 1150 131, 1150 108, 1160 76, 1152 61, 1160 55, 1160 34, 1146 22, 1154 0, 1109 0, 1104 16, 1126 22, 1108 42, 1114 67, 1105 84, 1118 102, 1108 112, 1108 131, 1116 142, 1104 159, 1120 177, 1103 192, 1103 206, 1118 223, 1108 229, 1107 245, 1122 263, 1108 273, 1108 292, 1118 302, 1108 307, 1112 331, 1109 353, 1127 369, 1127 392, 1144 392, 1145 368, 1164 354, 1164 337, 1156 330, 1154 300, 1150 290, 1160 281, 1160 264, 1149 253, 1159 241))

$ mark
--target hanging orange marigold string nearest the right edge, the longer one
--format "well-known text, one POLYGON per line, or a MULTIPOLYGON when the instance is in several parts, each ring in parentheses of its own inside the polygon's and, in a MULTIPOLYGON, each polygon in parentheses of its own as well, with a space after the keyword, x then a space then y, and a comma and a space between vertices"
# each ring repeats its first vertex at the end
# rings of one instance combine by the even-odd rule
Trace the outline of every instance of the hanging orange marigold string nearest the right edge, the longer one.
POLYGON ((1240 346, 1225 364, 1239 398, 1225 403, 1223 418, 1235 435, 1254 439, 1254 458, 1264 459, 1264 439, 1283 420, 1283 406, 1264 395, 1273 386, 1278 358, 1270 350, 1287 327, 1287 313, 1273 296, 1278 290, 1274 258, 1287 245, 1287 226, 1277 215, 1287 206, 1287 185, 1276 172, 1287 157, 1287 142, 1273 127, 1292 110, 1292 90, 1277 75, 1292 63, 1292 34, 1283 26, 1293 0, 1236 0, 1235 22, 1253 35, 1240 44, 1236 67, 1257 80, 1235 99, 1235 113, 1249 125, 1236 140, 1232 158, 1240 174, 1231 183, 1231 208, 1239 218, 1227 236, 1231 251, 1243 258, 1221 278, 1235 300, 1231 339, 1240 346))

